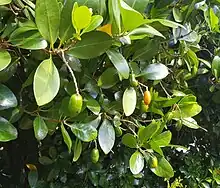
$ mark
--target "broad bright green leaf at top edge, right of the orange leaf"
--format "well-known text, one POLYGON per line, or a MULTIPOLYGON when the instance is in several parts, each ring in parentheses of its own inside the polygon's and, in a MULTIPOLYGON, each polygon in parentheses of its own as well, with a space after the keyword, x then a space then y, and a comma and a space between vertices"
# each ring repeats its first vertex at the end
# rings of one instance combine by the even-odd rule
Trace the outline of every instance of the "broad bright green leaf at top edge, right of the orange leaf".
POLYGON ((145 23, 144 17, 127 5, 123 0, 121 2, 121 16, 125 31, 131 31, 145 23))

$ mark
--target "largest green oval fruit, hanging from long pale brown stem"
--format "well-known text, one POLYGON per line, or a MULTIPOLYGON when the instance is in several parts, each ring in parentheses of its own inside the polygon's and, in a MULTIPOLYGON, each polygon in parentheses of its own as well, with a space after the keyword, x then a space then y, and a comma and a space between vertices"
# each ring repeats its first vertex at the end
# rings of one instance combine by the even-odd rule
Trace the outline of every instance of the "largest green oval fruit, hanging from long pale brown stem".
POLYGON ((83 99, 80 94, 73 94, 70 97, 68 109, 71 117, 77 116, 82 110, 83 99))

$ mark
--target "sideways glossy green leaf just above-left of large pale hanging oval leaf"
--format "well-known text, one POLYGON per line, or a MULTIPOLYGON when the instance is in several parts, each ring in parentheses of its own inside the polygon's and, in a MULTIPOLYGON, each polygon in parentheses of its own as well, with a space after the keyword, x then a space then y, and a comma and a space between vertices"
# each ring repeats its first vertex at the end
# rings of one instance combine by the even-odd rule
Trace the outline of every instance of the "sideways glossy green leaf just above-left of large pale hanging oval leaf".
POLYGON ((30 27, 20 27, 16 29, 9 38, 14 46, 28 50, 45 49, 47 41, 42 38, 40 33, 30 27))

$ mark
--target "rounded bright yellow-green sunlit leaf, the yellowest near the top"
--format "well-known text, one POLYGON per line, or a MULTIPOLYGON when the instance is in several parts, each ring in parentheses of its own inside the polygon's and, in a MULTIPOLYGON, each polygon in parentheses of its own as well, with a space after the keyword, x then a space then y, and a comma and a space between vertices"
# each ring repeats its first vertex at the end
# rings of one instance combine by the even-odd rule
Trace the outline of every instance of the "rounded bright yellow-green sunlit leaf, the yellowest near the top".
POLYGON ((72 11, 72 22, 76 31, 86 28, 92 19, 92 13, 87 6, 76 7, 72 11))

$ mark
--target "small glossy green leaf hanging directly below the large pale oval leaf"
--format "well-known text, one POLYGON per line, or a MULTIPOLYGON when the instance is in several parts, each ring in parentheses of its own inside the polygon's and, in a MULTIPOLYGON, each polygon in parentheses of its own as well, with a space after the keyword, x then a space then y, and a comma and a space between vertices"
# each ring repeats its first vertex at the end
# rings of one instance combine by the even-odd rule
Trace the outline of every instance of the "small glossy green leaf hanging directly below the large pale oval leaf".
POLYGON ((38 116, 34 119, 34 134, 37 140, 43 140, 48 133, 48 128, 44 120, 38 116))

